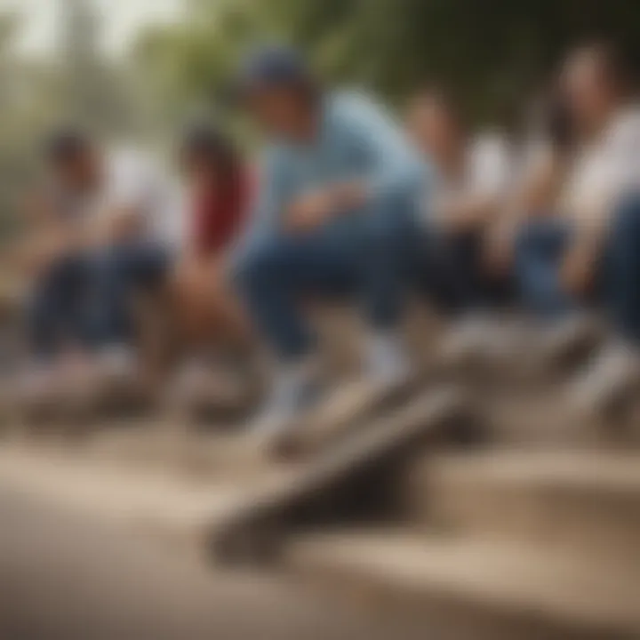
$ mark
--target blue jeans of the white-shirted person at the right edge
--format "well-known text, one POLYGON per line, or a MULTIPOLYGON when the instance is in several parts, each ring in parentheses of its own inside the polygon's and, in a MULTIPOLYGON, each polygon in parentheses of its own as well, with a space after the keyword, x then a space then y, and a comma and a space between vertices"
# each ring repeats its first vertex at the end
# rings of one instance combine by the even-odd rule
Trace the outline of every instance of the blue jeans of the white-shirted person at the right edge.
MULTIPOLYGON (((572 238, 561 220, 538 220, 523 229, 516 248, 516 271, 524 305, 543 317, 579 308, 564 291, 559 267, 572 238)), ((617 332, 640 341, 640 196, 617 207, 599 260, 594 299, 611 316, 617 332)))

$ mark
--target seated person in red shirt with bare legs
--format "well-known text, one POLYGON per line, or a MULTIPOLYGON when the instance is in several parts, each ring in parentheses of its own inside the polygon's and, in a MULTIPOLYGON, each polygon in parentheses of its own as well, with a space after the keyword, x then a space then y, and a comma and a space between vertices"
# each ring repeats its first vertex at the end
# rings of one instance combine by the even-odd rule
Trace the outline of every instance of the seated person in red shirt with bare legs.
POLYGON ((187 237, 171 279, 174 310, 187 362, 186 384, 202 386, 211 373, 204 352, 212 342, 244 347, 249 323, 225 281, 225 258, 234 244, 250 200, 250 180, 242 159, 222 133, 199 126, 180 149, 187 183, 187 237), (196 383, 194 379, 197 379, 196 383))

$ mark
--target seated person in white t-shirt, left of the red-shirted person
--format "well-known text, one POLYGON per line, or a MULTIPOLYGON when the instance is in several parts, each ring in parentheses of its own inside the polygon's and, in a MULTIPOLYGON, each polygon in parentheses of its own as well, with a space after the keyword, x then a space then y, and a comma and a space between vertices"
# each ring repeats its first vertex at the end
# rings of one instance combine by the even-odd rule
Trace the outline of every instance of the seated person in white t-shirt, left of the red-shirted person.
POLYGON ((49 161, 56 189, 76 214, 71 238, 84 284, 78 313, 94 373, 79 382, 129 379, 138 364, 130 293, 163 283, 180 243, 178 194, 143 154, 107 151, 79 132, 57 139, 49 161))

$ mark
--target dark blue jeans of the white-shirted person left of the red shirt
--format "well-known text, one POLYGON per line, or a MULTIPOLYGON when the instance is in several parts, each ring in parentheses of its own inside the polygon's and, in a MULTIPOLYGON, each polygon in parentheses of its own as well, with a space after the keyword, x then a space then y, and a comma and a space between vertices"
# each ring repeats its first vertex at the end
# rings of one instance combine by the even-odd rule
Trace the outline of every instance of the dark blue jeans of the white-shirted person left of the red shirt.
POLYGON ((92 332, 99 347, 131 342, 132 295, 164 283, 171 253, 161 244, 133 242, 92 257, 92 332))

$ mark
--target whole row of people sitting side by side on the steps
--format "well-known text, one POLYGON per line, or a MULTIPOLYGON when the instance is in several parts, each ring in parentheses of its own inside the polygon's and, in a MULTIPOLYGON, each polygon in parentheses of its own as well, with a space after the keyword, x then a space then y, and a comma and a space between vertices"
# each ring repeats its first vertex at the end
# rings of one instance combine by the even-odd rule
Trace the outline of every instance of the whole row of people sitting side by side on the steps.
POLYGON ((580 47, 535 134, 515 144, 472 136, 435 89, 410 100, 403 127, 362 93, 326 91, 296 52, 263 48, 233 92, 268 137, 260 171, 196 128, 180 154, 187 207, 146 157, 58 134, 52 185, 20 252, 33 275, 27 387, 139 376, 132 293, 153 290, 178 327, 180 379, 205 374, 210 340, 272 351, 259 433, 291 428, 325 398, 309 300, 361 305, 359 385, 374 396, 416 374, 401 331, 416 294, 451 317, 459 341, 474 325, 485 350, 508 341, 505 308, 530 321, 513 343, 521 351, 579 335, 596 310, 608 338, 580 384, 631 388, 640 110, 630 90, 612 48, 580 47))

